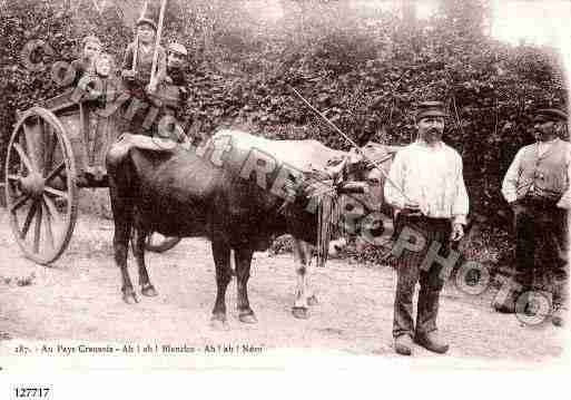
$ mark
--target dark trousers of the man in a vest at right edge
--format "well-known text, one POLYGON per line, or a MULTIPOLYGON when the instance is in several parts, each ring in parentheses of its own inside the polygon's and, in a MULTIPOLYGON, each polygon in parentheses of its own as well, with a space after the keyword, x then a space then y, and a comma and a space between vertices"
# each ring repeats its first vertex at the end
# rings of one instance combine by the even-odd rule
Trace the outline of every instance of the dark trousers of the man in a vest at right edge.
POLYGON ((515 282, 521 291, 534 289, 534 276, 550 273, 553 303, 567 300, 568 216, 554 202, 522 199, 514 207, 515 282))

